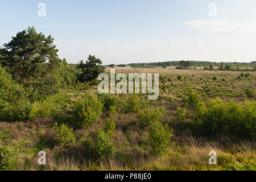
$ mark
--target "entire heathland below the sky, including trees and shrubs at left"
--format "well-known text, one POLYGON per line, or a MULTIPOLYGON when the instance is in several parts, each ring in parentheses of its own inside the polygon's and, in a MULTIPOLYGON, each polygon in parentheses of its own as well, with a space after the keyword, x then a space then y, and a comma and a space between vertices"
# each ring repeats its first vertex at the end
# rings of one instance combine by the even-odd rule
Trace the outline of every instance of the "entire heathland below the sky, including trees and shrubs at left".
POLYGON ((113 67, 91 55, 68 64, 53 38, 33 27, 4 47, 1 170, 256 169, 254 63, 114 67, 159 73, 159 97, 148 100, 142 93, 99 94, 98 74, 113 67), (40 151, 46 165, 38 163, 40 151))

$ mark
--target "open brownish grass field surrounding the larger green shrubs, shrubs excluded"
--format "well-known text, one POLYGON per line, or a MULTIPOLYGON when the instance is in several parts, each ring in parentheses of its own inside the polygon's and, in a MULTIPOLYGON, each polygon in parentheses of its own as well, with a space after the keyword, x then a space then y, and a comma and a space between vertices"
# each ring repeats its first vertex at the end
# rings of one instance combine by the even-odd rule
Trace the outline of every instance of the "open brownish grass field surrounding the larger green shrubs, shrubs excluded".
MULTIPOLYGON (((106 68, 109 72, 110 68, 106 68)), ((112 109, 103 110, 96 123, 82 128, 74 118, 74 105, 88 94, 97 96, 97 85, 81 84, 75 88, 61 90, 48 97, 42 107, 53 110, 46 117, 38 117, 29 122, 0 122, 0 146, 13 146, 15 162, 9 169, 15 170, 255 170, 256 143, 253 138, 230 135, 230 132, 217 131, 216 135, 197 131, 195 122, 196 106, 185 101, 187 89, 191 88, 199 100, 208 101, 220 97, 225 101, 233 98, 238 106, 246 97, 251 104, 255 129, 255 86, 256 73, 249 72, 241 77, 236 71, 203 71, 176 69, 115 68, 116 73, 159 73, 159 98, 147 99, 146 94, 112 94, 117 102, 112 109), (179 79, 177 76, 181 76, 179 79), (252 93, 249 93, 251 90, 252 93), (133 100, 134 102, 129 102, 133 100), (186 104, 187 103, 187 104, 186 104), (131 110, 128 110, 131 107, 131 110), (164 155, 152 154, 150 134, 147 127, 141 126, 140 111, 150 108, 158 110, 160 122, 172 131, 170 144, 164 155), (185 115, 177 114, 185 108, 185 115), (128 108, 128 109, 127 109, 128 108), (181 117, 181 118, 180 118, 181 117), (95 146, 89 141, 97 138, 97 129, 104 128, 108 119, 114 121, 114 152, 98 158, 95 146), (56 138, 56 125, 67 123, 73 128, 74 142, 63 146, 56 138), (87 135, 86 135, 87 134, 87 135), (47 154, 46 165, 38 164, 38 152, 47 154), (216 151, 217 165, 209 165, 209 151, 216 151)), ((244 72, 247 73, 247 72, 244 72)), ((228 105, 231 102, 228 102, 228 105)), ((143 116, 143 115, 142 115, 143 116)), ((230 120, 231 122, 232 120, 230 120)), ((201 126, 199 126, 201 127, 201 126)), ((255 132, 255 130, 253 131, 255 132)), ((232 133, 232 131, 231 131, 232 133)), ((103 151, 102 151, 103 152, 103 151)))

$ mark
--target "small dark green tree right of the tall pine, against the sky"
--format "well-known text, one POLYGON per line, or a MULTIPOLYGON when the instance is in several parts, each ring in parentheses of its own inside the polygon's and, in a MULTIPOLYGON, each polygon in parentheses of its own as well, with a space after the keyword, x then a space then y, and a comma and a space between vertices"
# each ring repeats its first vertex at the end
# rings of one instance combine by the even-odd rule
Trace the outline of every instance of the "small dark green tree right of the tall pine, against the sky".
POLYGON ((83 60, 79 61, 77 68, 81 69, 81 74, 79 76, 79 80, 84 81, 92 81, 98 77, 98 75, 104 72, 104 67, 102 65, 102 61, 96 56, 89 55, 88 60, 84 63, 83 60))

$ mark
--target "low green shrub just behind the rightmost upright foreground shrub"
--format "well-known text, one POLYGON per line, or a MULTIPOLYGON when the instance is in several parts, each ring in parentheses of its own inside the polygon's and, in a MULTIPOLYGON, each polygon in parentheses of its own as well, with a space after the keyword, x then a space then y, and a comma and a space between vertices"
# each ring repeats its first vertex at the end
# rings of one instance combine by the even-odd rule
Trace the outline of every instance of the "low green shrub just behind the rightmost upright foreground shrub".
POLYGON ((151 122, 160 122, 164 113, 164 107, 144 109, 138 112, 139 122, 142 127, 147 127, 151 122))

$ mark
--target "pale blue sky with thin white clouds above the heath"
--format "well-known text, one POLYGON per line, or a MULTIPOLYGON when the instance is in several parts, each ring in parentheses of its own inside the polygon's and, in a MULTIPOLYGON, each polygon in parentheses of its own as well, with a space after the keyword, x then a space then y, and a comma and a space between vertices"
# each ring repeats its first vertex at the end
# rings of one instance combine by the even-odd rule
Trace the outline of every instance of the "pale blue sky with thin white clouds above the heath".
POLYGON ((0 46, 34 26, 55 38, 68 63, 88 55, 104 65, 250 62, 256 60, 255 9, 255 0, 0 0, 0 46))

